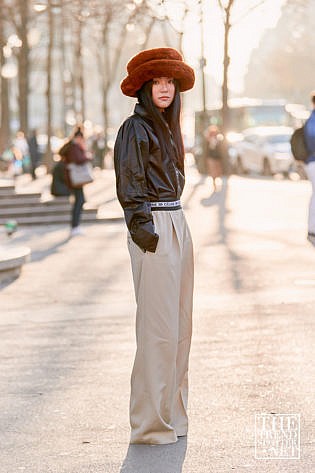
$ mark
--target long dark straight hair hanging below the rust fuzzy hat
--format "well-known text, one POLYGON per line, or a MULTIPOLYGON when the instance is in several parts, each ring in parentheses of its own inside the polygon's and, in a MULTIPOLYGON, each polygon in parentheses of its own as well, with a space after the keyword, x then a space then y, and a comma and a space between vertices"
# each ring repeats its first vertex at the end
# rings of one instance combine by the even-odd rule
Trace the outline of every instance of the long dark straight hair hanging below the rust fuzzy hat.
POLYGON ((152 120, 157 138, 162 151, 162 156, 169 155, 177 163, 179 169, 184 170, 184 144, 180 129, 180 109, 181 100, 179 86, 175 83, 174 100, 163 113, 154 105, 152 100, 152 84, 150 80, 146 82, 138 91, 137 96, 140 105, 142 105, 149 118, 152 120), (170 135, 171 132, 171 135, 170 135), (172 138, 175 145, 172 145, 172 138))

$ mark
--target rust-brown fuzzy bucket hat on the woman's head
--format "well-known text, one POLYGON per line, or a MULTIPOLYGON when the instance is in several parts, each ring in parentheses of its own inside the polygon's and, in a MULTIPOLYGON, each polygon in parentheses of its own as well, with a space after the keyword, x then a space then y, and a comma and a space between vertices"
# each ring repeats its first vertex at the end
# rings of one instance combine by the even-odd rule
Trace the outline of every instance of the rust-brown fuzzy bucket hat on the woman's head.
POLYGON ((189 90, 195 82, 193 69, 183 61, 173 48, 146 49, 136 54, 127 64, 128 75, 121 82, 122 93, 136 97, 145 82, 154 77, 173 77, 181 92, 189 90))

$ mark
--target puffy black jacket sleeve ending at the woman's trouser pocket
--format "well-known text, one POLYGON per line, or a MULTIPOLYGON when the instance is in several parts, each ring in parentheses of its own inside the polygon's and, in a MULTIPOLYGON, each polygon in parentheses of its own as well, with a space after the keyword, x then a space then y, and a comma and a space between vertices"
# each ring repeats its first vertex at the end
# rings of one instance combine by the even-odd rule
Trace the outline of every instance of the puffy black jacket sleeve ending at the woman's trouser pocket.
POLYGON ((132 118, 121 126, 114 148, 116 190, 133 241, 155 252, 159 236, 154 231, 145 176, 149 139, 141 123, 132 118))

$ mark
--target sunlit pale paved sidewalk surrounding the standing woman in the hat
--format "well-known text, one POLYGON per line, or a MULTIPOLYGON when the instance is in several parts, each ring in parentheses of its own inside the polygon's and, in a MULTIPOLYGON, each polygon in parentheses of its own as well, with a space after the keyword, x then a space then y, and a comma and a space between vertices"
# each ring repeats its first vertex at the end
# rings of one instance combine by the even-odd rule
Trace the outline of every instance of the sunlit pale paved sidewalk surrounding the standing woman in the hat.
POLYGON ((1 473, 312 473, 309 191, 233 176, 211 194, 188 172, 190 430, 168 446, 128 445, 135 301, 124 222, 89 224, 73 239, 64 225, 21 228, 12 243, 29 246, 32 261, 0 291, 1 473), (255 459, 261 413, 300 414, 299 460, 255 459))

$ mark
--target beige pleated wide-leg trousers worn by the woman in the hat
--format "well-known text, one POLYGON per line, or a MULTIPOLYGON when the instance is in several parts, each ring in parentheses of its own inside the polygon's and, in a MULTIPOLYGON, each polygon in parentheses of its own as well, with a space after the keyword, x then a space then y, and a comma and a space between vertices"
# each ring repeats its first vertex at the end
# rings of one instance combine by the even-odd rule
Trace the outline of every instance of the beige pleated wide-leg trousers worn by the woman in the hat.
POLYGON ((166 444, 187 434, 193 247, 182 209, 152 212, 155 253, 128 235, 137 302, 130 443, 166 444))

